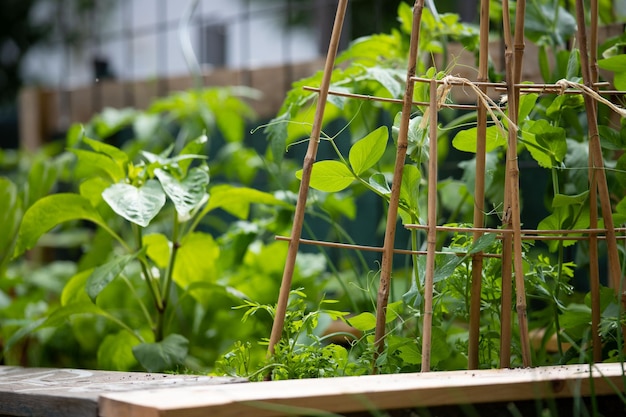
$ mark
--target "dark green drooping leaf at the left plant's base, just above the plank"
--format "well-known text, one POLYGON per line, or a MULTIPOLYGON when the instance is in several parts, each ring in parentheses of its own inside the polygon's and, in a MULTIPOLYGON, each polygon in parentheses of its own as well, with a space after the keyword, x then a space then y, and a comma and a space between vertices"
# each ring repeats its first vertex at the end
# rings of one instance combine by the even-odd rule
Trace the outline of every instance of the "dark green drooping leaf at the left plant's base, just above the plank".
POLYGON ((170 334, 156 343, 141 343, 133 348, 133 354, 148 372, 175 370, 187 357, 189 341, 179 334, 170 334))

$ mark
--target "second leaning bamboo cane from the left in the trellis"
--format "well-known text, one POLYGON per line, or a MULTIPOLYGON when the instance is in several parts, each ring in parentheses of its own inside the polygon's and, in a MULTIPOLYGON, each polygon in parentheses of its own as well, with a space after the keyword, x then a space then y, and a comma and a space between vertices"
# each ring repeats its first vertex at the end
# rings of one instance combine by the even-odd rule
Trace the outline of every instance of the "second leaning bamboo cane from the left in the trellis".
POLYGON ((394 180, 391 184, 391 195, 389 196, 389 207, 387 209, 387 224, 385 227, 385 240, 383 242, 380 284, 376 299, 376 331, 374 335, 376 354, 373 361, 374 373, 377 372, 376 360, 378 359, 378 355, 383 352, 385 345, 385 323, 387 317, 387 303, 389 300, 389 287, 391 284, 391 269, 393 267, 393 248, 395 244, 396 221, 398 219, 398 206, 400 202, 400 186, 402 185, 402 170, 404 169, 404 161, 406 159, 408 147, 409 120, 411 117, 413 91, 415 87, 411 78, 415 75, 417 67, 419 31, 423 9, 424 0, 416 0, 413 5, 413 26, 411 28, 404 103, 402 104, 402 118, 400 121, 400 131, 398 132, 398 149, 396 151, 396 161, 393 171, 394 180))

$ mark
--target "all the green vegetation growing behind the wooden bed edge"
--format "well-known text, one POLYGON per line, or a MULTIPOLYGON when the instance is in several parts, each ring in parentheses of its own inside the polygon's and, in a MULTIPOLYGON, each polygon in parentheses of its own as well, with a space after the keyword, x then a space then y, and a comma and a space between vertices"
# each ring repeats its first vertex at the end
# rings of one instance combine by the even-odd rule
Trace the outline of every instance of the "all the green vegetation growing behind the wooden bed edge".
MULTIPOLYGON (((527 25, 540 46, 544 81, 579 83, 579 53, 563 48, 573 34, 565 24, 572 16, 553 2, 535 3, 543 13, 529 13, 527 25), (550 13, 556 31, 540 21, 550 13)), ((412 19, 407 4, 400 5, 398 17, 399 26, 391 33, 358 39, 341 54, 333 91, 402 96, 412 19)), ((437 79, 453 74, 454 62, 435 68, 429 59, 452 41, 475 52, 478 34, 454 14, 424 10, 417 73, 437 79)), ((626 88, 626 55, 619 53, 625 43, 621 36, 600 48, 599 65, 614 73, 619 89, 626 88)), ((265 354, 287 253, 287 244, 274 236, 290 233, 300 177, 300 161, 286 155, 298 154, 310 133, 316 94, 302 87, 319 86, 321 76, 295 83, 277 117, 253 130, 254 138, 265 133, 266 148, 245 139, 245 130, 259 124, 251 122, 242 99, 254 98, 254 92, 208 89, 159 100, 147 111, 108 109, 89 124, 74 126, 64 144, 53 144, 40 155, 2 154, 7 172, 0 181, 0 224, 6 231, 0 236, 5 363, 213 372, 251 379, 362 375, 371 371, 374 360, 380 372, 418 371, 426 269, 425 257, 418 255, 399 256, 395 262, 385 349, 376 355, 376 261, 348 249, 303 250, 283 338, 272 357, 265 354), (50 257, 68 260, 43 262, 50 257), (329 331, 332 323, 344 327, 329 331)), ((492 68, 491 77, 502 74, 492 68)), ((415 89, 418 102, 429 100, 423 87, 415 89)), ((304 237, 376 244, 381 220, 367 212, 386 207, 389 199, 399 111, 400 104, 391 100, 329 97, 320 144, 325 156, 314 165, 304 237), (353 235, 366 222, 374 223, 375 236, 357 241, 353 235)), ((458 173, 437 185, 437 217, 443 225, 469 226, 476 114, 442 110, 438 154, 433 155, 424 112, 417 106, 409 126, 399 217, 403 225, 424 224, 428 161, 454 156, 458 173)), ((613 220, 621 225, 626 223, 626 199, 619 191, 626 186, 626 122, 611 119, 605 106, 599 113, 605 121, 600 132, 614 192, 613 220)), ((533 197, 539 194, 543 203, 540 208, 525 206, 534 215, 523 219, 525 227, 589 227, 587 121, 581 114, 579 95, 526 94, 520 100, 519 159, 545 180, 523 187, 524 201, 536 204, 533 197), (544 183, 545 188, 536 185, 544 183)), ((502 114, 498 119, 506 128, 502 114)), ((503 216, 505 147, 505 136, 492 120, 485 192, 492 207, 485 213, 490 227, 500 225, 503 216)), ((411 229, 398 241, 418 251, 425 248, 424 237, 423 231, 411 229)), ((437 248, 431 366, 463 369, 470 255, 501 254, 502 243, 495 233, 476 241, 471 233, 442 233, 437 248)), ((622 259, 625 250, 620 248, 622 259)), ((599 253, 590 253, 584 241, 574 239, 524 243, 530 328, 542 332, 534 364, 591 361, 586 270, 590 259, 602 255, 602 245, 599 253), (547 349, 552 336, 555 350, 547 349)), ((501 259, 485 258, 482 368, 499 366, 501 277, 501 259)), ((602 287, 601 311, 602 359, 623 361, 622 312, 613 289, 602 287)), ((514 328, 514 366, 521 364, 517 333, 514 328)))

